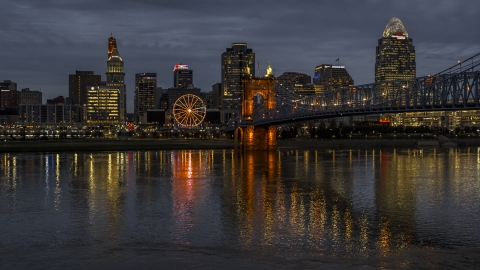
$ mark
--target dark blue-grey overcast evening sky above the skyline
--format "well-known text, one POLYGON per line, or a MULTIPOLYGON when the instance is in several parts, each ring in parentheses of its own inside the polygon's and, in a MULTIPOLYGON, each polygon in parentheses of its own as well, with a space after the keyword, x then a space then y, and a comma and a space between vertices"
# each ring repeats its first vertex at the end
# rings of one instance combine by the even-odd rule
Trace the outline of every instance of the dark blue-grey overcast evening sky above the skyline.
POLYGON ((90 70, 105 80, 108 38, 125 63, 127 110, 135 73, 156 72, 173 87, 173 66, 193 70, 204 92, 220 82, 221 54, 244 42, 257 75, 345 66, 355 85, 374 82, 375 47, 398 17, 413 39, 417 76, 480 52, 480 1, 461 0, 2 0, 0 81, 68 96, 68 75, 90 70))

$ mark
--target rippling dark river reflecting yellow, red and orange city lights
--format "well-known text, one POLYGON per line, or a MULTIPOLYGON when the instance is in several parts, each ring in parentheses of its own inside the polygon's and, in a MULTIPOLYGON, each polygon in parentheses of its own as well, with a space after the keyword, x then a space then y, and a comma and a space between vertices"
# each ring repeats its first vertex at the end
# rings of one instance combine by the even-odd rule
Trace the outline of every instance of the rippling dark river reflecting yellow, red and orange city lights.
POLYGON ((0 269, 480 267, 477 148, 0 160, 0 269))

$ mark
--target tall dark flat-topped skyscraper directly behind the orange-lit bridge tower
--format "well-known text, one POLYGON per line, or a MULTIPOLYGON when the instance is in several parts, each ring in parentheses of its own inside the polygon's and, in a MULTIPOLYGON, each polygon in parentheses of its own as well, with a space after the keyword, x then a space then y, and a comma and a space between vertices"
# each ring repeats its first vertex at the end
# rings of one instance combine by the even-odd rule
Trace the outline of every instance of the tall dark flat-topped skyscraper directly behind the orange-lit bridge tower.
POLYGON ((222 53, 222 121, 241 113, 242 77, 255 76, 255 53, 246 43, 233 43, 222 53))

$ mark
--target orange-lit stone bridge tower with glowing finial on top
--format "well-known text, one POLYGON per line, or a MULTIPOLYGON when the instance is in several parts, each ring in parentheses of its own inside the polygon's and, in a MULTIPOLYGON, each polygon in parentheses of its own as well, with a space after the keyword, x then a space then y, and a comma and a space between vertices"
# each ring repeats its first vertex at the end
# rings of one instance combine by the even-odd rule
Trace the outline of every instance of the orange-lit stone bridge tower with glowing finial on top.
POLYGON ((275 108, 275 78, 270 64, 265 77, 242 78, 242 120, 236 123, 234 141, 236 150, 274 150, 277 148, 276 126, 254 126, 255 96, 263 98, 263 109, 275 108))

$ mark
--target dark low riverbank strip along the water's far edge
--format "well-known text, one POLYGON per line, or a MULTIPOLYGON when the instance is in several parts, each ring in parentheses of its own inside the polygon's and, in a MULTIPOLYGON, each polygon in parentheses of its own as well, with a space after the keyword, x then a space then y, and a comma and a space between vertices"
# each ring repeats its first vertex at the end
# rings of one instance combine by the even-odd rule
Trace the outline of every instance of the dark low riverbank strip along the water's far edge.
MULTIPOLYGON (((450 148, 480 147, 480 139, 451 140, 454 145, 428 145, 435 140, 278 140, 277 149, 364 149, 364 148, 450 148)), ((97 152, 97 151, 148 151, 148 150, 197 150, 234 149, 232 140, 203 139, 65 139, 0 142, 0 153, 12 152, 97 152)))

